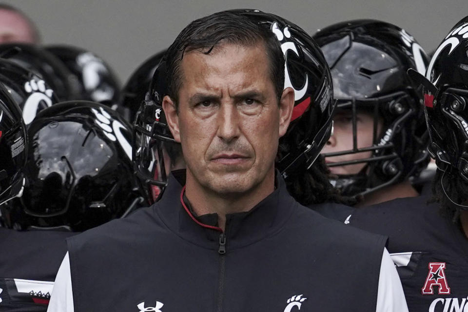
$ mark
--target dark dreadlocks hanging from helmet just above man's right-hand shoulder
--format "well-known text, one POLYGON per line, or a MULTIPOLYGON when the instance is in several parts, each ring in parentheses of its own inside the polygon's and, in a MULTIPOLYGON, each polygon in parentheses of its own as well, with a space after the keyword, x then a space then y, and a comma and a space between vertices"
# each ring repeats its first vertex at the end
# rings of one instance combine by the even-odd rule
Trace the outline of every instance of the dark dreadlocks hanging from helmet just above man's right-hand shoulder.
POLYGON ((352 206, 358 202, 358 198, 343 196, 331 185, 330 170, 321 155, 309 170, 302 170, 286 179, 286 188, 291 196, 304 206, 325 202, 352 206))

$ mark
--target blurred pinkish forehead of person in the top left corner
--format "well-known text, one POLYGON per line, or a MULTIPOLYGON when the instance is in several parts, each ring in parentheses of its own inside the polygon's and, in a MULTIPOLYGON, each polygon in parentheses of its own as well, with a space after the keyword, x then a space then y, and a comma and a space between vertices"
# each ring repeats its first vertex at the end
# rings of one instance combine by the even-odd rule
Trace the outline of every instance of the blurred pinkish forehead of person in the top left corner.
POLYGON ((16 12, 0 9, 0 44, 9 42, 36 43, 27 20, 16 12))

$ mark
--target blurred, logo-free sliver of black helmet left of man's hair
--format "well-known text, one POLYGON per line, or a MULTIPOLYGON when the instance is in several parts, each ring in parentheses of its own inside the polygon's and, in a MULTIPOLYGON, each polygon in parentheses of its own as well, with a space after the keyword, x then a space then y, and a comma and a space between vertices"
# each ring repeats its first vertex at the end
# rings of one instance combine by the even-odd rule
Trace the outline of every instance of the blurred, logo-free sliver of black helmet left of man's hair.
POLYGON ((122 98, 117 111, 132 123, 135 121, 135 116, 141 103, 145 100, 151 79, 165 52, 166 50, 156 53, 138 66, 122 89, 122 98))

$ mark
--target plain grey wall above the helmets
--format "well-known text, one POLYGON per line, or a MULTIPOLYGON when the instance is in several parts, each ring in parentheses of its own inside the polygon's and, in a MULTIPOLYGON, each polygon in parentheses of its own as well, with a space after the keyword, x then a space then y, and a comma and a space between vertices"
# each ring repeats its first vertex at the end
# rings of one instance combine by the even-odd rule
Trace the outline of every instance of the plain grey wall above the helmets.
POLYGON ((190 21, 232 8, 275 13, 313 34, 332 23, 372 18, 405 28, 426 52, 468 15, 468 0, 7 0, 34 20, 43 43, 75 44, 105 59, 122 83, 169 46, 190 21))

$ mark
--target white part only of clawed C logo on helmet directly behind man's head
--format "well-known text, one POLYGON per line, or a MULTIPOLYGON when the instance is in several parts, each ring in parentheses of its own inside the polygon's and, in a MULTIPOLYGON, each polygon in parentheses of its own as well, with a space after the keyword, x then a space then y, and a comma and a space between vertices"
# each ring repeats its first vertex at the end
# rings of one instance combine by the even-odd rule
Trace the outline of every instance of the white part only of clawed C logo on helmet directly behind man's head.
MULTIPOLYGON (((284 56, 286 57, 288 51, 294 52, 297 56, 299 56, 299 52, 297 51, 296 44, 288 39, 291 39, 291 32, 289 31, 289 27, 285 27, 282 31, 278 27, 278 23, 274 22, 272 26, 273 34, 276 35, 276 39, 281 43, 281 50, 283 51, 284 56)), ((307 87, 309 85, 309 77, 306 74, 306 81, 301 89, 296 89, 292 85, 291 76, 288 70, 287 59, 286 63, 284 64, 284 87, 291 87, 294 90, 294 101, 300 100, 306 95, 307 87)))

